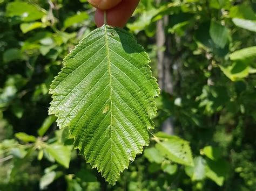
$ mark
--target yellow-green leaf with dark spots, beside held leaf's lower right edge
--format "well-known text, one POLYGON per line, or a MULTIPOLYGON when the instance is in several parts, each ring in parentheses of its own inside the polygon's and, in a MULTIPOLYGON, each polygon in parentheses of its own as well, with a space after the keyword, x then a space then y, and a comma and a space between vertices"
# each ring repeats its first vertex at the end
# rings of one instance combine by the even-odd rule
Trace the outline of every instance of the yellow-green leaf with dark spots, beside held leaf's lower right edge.
MULTIPOLYGON (((156 140, 159 138, 156 134, 156 140)), ((173 162, 193 166, 193 158, 189 142, 177 136, 164 136, 163 141, 157 140, 156 148, 173 162)))

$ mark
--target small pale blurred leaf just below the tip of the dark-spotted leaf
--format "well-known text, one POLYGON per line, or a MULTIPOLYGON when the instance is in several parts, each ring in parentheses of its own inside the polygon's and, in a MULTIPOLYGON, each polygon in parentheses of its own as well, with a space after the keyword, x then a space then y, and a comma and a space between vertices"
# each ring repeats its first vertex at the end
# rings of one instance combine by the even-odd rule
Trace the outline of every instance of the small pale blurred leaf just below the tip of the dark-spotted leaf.
POLYGON ((194 166, 186 166, 185 172, 192 181, 203 180, 206 173, 206 161, 200 156, 194 158, 194 166))

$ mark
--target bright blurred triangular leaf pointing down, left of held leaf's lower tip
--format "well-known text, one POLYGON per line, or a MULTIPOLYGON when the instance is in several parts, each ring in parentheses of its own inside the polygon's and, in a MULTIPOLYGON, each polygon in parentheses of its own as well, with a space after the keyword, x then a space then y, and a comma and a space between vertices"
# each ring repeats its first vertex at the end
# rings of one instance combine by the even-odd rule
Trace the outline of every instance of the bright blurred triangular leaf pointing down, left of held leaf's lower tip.
POLYGON ((50 144, 45 149, 60 165, 69 168, 71 158, 70 146, 50 144))

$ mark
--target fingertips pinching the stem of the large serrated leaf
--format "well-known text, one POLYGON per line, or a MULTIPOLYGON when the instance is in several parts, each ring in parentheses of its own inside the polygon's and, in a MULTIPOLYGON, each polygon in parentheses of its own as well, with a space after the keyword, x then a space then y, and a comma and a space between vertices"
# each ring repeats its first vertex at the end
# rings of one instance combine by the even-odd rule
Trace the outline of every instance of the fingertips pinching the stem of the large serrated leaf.
POLYGON ((104 11, 106 11, 107 24, 124 27, 139 4, 139 0, 88 0, 97 8, 95 23, 97 27, 104 24, 104 11))

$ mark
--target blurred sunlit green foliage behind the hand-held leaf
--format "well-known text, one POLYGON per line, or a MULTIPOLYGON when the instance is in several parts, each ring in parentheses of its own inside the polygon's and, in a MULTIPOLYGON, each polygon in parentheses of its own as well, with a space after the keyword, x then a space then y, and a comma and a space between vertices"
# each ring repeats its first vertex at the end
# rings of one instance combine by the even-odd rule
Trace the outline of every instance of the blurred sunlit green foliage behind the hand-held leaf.
POLYGON ((255 190, 255 11, 254 0, 140 1, 127 30, 163 91, 150 146, 112 187, 48 116, 49 86, 95 9, 0 0, 0 189, 255 190))

